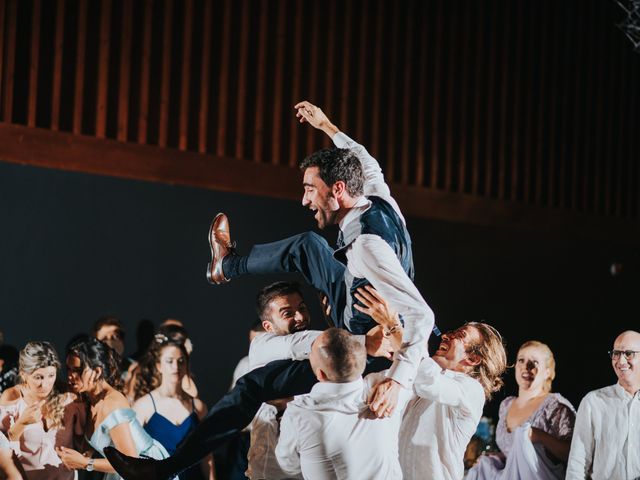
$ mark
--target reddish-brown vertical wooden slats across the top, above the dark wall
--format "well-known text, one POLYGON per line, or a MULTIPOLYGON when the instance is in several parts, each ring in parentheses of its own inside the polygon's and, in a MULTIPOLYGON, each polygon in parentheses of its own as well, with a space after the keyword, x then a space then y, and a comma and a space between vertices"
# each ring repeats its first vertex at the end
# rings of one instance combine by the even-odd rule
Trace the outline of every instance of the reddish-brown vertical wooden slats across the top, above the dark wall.
MULTIPOLYGON (((328 145, 295 121, 306 98, 369 147, 412 215, 508 225, 517 211, 538 228, 547 212, 635 232, 640 56, 623 18, 600 0, 0 0, 0 159, 33 157, 7 138, 49 138, 30 127, 122 143, 86 144, 110 158, 132 147, 121 176, 136 177, 143 145, 167 150, 172 172, 185 152, 297 178, 328 145)), ((84 171, 118 175, 93 161, 84 171)), ((148 162, 139 178, 182 183, 148 162)))

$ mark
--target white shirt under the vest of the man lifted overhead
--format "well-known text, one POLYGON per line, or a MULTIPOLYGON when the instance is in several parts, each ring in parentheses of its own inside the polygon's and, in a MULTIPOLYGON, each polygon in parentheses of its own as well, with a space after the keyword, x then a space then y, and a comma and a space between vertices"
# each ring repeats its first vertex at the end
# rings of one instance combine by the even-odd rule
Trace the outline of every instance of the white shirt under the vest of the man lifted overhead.
MULTIPOLYGON (((366 148, 342 132, 333 136, 333 143, 338 148, 351 149, 357 155, 365 177, 365 196, 340 221, 340 230, 346 232, 357 228, 360 216, 370 207, 366 196, 372 195, 389 202, 404 221, 384 181, 380 165, 366 148)), ((426 354, 427 339, 434 325, 433 312, 402 268, 393 249, 382 238, 371 234, 359 235, 347 248, 346 257, 351 275, 366 278, 404 320, 402 345, 394 355, 388 376, 409 388, 418 364, 426 354)), ((347 297, 347 308, 350 308, 351 296, 347 297)))

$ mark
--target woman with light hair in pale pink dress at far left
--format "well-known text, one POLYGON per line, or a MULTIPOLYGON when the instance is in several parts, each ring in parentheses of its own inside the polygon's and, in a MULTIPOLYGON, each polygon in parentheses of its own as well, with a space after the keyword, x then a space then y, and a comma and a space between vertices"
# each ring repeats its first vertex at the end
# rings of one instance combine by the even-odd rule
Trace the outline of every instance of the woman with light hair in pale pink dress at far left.
POLYGON ((20 383, 0 397, 0 428, 29 479, 71 480, 56 448, 80 439, 84 405, 55 387, 60 361, 50 343, 27 343, 18 364, 20 383))

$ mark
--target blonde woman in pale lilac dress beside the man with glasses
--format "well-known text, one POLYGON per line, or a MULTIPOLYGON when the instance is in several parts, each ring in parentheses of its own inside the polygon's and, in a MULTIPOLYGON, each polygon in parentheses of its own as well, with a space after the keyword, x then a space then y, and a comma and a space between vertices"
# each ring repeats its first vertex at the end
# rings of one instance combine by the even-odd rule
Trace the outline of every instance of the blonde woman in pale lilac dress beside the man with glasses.
POLYGON ((564 478, 576 413, 566 398, 552 393, 555 375, 546 344, 522 344, 515 363, 518 396, 500 404, 496 443, 502 454, 481 457, 467 478, 564 478))

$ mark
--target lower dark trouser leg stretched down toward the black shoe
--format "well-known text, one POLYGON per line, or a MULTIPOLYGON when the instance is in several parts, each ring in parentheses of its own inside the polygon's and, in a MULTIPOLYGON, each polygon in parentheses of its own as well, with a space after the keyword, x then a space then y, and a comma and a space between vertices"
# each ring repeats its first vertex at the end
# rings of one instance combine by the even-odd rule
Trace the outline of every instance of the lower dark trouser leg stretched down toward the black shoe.
POLYGON ((277 360, 247 373, 211 407, 176 452, 161 462, 163 476, 181 472, 237 434, 251 422, 263 402, 308 393, 316 382, 306 360, 277 360))

